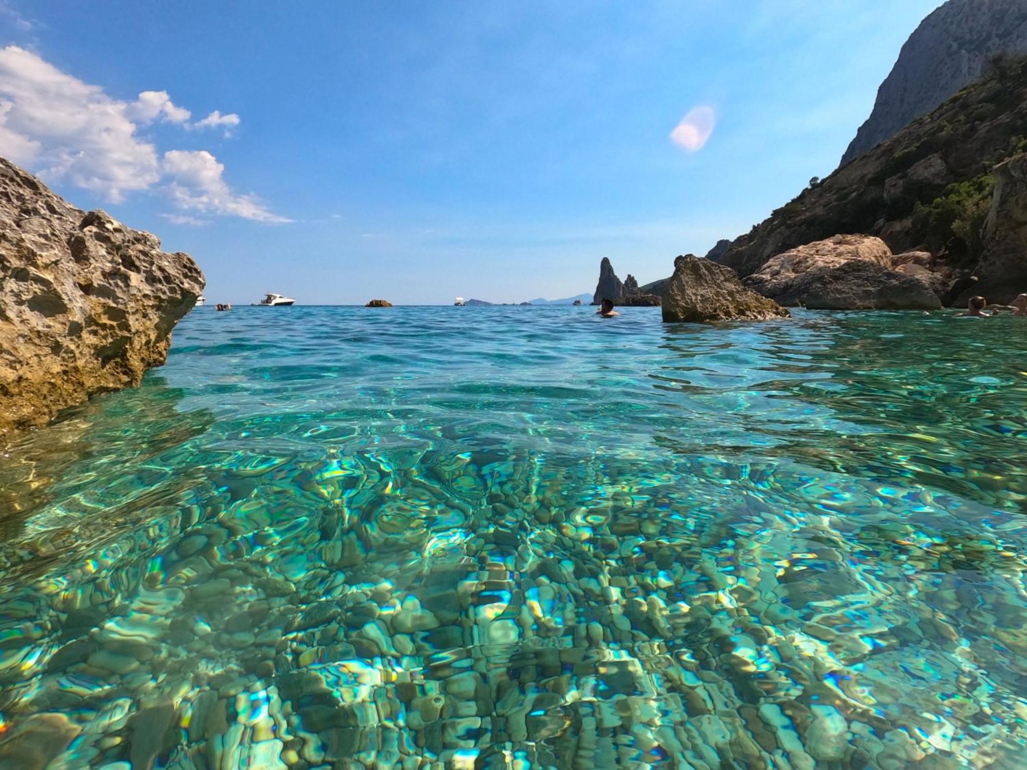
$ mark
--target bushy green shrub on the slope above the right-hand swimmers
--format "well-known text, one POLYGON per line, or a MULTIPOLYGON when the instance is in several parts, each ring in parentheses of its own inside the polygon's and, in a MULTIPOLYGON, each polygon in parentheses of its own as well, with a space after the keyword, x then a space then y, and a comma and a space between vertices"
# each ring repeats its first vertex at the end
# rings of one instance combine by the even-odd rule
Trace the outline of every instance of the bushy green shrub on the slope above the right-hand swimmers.
POLYGON ((949 185, 930 203, 916 205, 913 227, 933 252, 947 248, 953 255, 976 257, 983 245, 981 230, 994 187, 990 174, 949 185))

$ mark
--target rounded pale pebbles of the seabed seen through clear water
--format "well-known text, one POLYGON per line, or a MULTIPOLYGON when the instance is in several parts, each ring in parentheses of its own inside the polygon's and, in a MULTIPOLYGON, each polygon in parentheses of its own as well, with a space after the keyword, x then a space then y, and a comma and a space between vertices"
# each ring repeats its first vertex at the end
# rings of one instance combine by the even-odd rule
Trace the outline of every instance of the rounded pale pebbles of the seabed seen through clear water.
POLYGON ((923 534, 953 521, 945 495, 532 453, 172 471, 140 469, 174 485, 156 505, 80 499, 0 546, 0 767, 898 770, 1022 750, 1019 525, 923 534))

